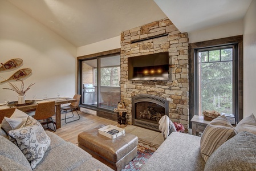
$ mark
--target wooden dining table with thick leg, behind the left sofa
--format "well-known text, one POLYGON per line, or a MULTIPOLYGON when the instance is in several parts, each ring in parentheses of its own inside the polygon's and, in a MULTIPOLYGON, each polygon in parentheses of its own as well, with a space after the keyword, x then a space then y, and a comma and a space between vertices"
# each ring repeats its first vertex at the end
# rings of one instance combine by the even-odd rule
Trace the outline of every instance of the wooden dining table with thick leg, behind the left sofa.
MULTIPOLYGON (((61 123, 61 116, 60 116, 60 105, 61 104, 66 104, 66 103, 72 103, 77 101, 77 99, 72 99, 72 98, 67 98, 67 99, 59 99, 59 98, 52 98, 52 99, 46 99, 46 101, 55 101, 55 108, 56 108, 56 129, 61 128, 62 127, 62 123, 61 123)), ((35 111, 36 107, 37 107, 37 103, 35 104, 31 104, 31 105, 23 105, 23 106, 19 106, 19 107, 14 107, 17 108, 23 112, 28 112, 28 111, 35 111)))

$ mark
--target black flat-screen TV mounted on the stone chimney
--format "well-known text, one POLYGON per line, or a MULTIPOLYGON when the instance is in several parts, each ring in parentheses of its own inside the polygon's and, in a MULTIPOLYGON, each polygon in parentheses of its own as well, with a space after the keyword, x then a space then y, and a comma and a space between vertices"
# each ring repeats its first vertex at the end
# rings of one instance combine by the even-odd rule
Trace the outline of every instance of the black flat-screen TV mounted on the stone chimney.
POLYGON ((169 52, 129 57, 128 80, 169 80, 169 52))

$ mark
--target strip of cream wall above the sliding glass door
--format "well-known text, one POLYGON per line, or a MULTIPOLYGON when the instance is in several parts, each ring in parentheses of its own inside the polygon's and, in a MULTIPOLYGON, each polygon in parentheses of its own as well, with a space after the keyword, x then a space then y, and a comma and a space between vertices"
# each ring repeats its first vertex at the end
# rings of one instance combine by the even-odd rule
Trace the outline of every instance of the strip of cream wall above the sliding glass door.
POLYGON ((116 48, 121 48, 120 39, 121 36, 116 36, 114 38, 78 47, 77 56, 90 55, 98 52, 104 52, 116 48))

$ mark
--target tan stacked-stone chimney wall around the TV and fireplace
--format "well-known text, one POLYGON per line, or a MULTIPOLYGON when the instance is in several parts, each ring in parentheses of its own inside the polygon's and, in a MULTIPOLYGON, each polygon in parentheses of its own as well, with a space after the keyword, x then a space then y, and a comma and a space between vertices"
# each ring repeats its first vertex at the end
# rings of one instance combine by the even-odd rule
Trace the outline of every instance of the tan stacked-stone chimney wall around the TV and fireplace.
POLYGON ((160 96, 169 101, 169 117, 189 128, 188 34, 181 33, 168 19, 121 32, 121 101, 132 124, 132 97, 160 96), (161 36, 165 35, 166 36, 161 36), (159 36, 159 37, 157 37, 159 36), (139 40, 139 41, 137 41, 139 40), (141 41, 140 41, 141 40, 141 41), (135 43, 132 43, 136 41, 135 43), (169 52, 169 81, 128 80, 128 58, 169 52))

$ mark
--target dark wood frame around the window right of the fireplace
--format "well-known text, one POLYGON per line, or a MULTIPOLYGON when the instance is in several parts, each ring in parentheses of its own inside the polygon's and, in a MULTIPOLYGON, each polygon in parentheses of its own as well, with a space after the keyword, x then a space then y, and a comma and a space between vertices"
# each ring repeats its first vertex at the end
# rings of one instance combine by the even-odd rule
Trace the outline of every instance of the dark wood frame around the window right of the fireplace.
MULTIPOLYGON (((235 84, 235 94, 237 94, 237 103, 235 103, 237 116, 236 120, 239 122, 243 118, 243 36, 231 36, 228 38, 221 38, 221 39, 214 39, 214 40, 206 40, 204 42, 196 42, 196 43, 189 43, 189 120, 196 113, 196 96, 197 96, 197 80, 196 80, 196 72, 195 70, 195 58, 196 58, 196 51, 202 48, 213 48, 213 47, 221 47, 221 46, 228 46, 234 44, 237 46, 236 55, 238 59, 234 64, 237 66, 238 70, 236 70, 235 80, 237 80, 237 84, 235 84)), ((196 114, 197 115, 197 114, 196 114)), ((191 124, 190 128, 191 128, 191 124)))

